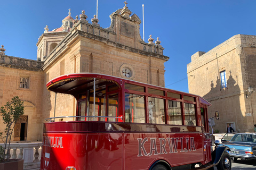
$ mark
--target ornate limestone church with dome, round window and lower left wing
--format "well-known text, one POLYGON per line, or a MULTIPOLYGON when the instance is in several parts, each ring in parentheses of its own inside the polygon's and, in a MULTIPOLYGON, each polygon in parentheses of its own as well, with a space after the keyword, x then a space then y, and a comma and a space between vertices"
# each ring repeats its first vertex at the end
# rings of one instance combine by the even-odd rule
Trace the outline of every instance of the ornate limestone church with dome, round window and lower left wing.
MULTIPOLYGON (((85 11, 73 19, 69 10, 60 28, 49 31, 46 25, 36 44, 35 61, 7 56, 4 47, 0 49, 0 105, 19 96, 26 106, 13 140, 42 140, 42 124, 53 117, 55 100, 46 83, 60 75, 93 72, 164 86, 169 57, 163 55, 161 41, 141 39, 141 20, 126 3, 110 19, 110 27, 102 28, 95 15, 90 23, 85 11)), ((55 116, 75 115, 75 98, 57 98, 55 116)), ((0 131, 3 128, 0 124, 0 131)))

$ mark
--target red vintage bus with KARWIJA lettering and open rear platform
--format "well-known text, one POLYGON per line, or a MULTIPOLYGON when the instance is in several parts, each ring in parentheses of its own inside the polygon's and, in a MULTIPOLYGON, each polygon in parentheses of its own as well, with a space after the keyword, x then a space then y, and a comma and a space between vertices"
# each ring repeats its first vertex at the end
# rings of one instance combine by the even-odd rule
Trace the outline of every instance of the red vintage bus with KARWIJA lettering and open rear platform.
POLYGON ((77 109, 44 123, 42 170, 231 169, 229 148, 211 151, 211 104, 199 96, 93 73, 46 86, 77 109))

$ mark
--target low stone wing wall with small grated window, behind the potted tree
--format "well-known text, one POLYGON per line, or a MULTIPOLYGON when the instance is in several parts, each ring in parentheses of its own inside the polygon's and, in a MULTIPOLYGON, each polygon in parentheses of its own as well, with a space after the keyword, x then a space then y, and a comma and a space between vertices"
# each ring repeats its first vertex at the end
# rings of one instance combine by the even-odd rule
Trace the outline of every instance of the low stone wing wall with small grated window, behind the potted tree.
MULTIPOLYGON (((0 107, 14 96, 19 96, 25 104, 28 116, 27 140, 37 141, 42 137, 42 95, 43 77, 42 63, 24 58, 0 56, 0 107), (20 77, 29 77, 29 88, 20 88, 20 77)), ((5 125, 0 118, 0 131, 5 125)), ((12 137, 13 139, 13 137, 12 137)))

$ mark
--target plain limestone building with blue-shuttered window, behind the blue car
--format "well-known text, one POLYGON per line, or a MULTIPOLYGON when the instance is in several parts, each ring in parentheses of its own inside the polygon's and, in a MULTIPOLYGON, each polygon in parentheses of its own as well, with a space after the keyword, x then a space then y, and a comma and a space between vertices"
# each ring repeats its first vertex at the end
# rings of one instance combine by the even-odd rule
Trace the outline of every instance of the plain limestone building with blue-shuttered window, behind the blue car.
POLYGON ((227 124, 237 132, 253 131, 256 124, 256 36, 235 35, 209 52, 197 52, 187 65, 188 87, 220 113, 214 129, 225 133, 227 124))

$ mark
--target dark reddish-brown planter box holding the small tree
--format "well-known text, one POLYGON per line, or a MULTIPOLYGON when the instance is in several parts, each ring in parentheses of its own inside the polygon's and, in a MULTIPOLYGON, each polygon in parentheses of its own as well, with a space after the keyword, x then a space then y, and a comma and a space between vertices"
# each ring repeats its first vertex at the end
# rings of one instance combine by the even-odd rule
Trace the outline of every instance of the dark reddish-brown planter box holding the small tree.
POLYGON ((10 159, 10 162, 0 163, 1 170, 23 170, 23 159, 10 159))

